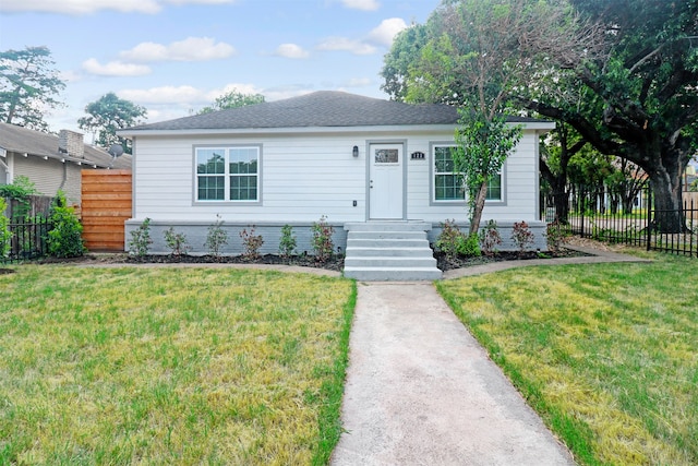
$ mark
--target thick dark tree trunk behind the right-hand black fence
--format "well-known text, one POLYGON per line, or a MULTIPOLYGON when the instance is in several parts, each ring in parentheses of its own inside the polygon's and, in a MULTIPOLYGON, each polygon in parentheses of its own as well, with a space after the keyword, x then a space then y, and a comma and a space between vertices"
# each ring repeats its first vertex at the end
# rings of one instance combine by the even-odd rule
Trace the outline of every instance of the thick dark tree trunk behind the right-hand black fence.
POLYGON ((650 175, 650 187, 654 196, 654 217, 652 227, 662 234, 686 231, 682 211, 681 174, 670 174, 658 168, 650 175))

